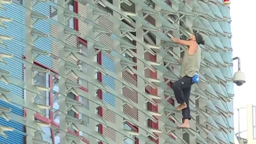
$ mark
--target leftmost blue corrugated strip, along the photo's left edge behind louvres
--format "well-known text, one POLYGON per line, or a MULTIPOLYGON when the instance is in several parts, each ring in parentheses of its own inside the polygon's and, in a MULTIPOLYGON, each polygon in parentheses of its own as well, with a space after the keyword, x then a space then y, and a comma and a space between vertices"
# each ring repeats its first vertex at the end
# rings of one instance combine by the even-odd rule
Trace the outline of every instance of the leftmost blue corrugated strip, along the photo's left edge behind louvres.
MULTIPOLYGON (((11 73, 11 76, 19 79, 23 79, 23 65, 18 60, 22 59, 22 56, 25 54, 25 44, 21 41, 24 41, 25 38, 25 27, 19 23, 25 23, 25 10, 21 9, 17 4, 4 5, 6 11, 0 10, 1 17, 12 18, 13 22, 5 23, 7 26, 6 29, 0 28, 1 35, 7 35, 13 37, 12 41, 5 41, 7 47, 4 48, 3 45, 0 45, 0 52, 6 54, 13 54, 14 58, 5 59, 7 65, 0 63, 0 69, 7 70, 11 73), (13 33, 15 31, 15 33, 13 33)), ((23 96, 23 89, 13 85, 6 85, 3 82, 0 82, 0 87, 8 89, 12 94, 17 95, 17 97, 23 96)), ((0 106, 11 108, 11 113, 14 113, 19 116, 23 116, 23 108, 11 105, 0 100, 0 106)), ((12 143, 12 144, 21 144, 24 142, 23 134, 19 133, 24 131, 24 126, 12 120, 6 121, 3 118, 0 118, 0 125, 12 127, 15 131, 5 131, 7 138, 0 136, 0 143, 12 143)))

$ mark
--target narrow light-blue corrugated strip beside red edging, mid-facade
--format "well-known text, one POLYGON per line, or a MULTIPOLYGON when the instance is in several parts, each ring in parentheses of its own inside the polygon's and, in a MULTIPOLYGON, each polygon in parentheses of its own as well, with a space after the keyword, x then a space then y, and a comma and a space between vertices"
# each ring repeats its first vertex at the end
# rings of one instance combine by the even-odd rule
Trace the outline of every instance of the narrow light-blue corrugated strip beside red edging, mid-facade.
MULTIPOLYGON (((109 58, 106 54, 102 54, 102 66, 110 71, 115 71, 114 60, 109 58)), ((102 82, 115 89, 115 79, 113 77, 102 75, 102 82)), ((103 101, 113 106, 116 105, 116 97, 111 93, 103 92, 103 101)))

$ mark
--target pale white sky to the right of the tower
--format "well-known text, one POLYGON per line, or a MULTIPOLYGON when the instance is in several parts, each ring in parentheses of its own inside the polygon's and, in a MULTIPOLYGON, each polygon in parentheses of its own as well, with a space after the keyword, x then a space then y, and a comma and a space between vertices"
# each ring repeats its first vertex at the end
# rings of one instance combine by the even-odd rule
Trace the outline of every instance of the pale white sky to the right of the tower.
MULTIPOLYGON (((238 87, 234 85, 234 108, 246 107, 247 104, 256 105, 256 1, 255 0, 230 0, 231 2, 231 30, 233 57, 241 58, 241 71, 246 75, 246 83, 238 87), (254 65, 254 66, 253 66, 254 65)), ((237 61, 234 61, 234 72, 237 71, 237 61)), ((246 109, 241 109, 241 130, 247 129, 246 109)), ((238 132, 237 110, 234 110, 235 132, 238 132)), ((242 134, 246 138, 246 133, 242 134)))

